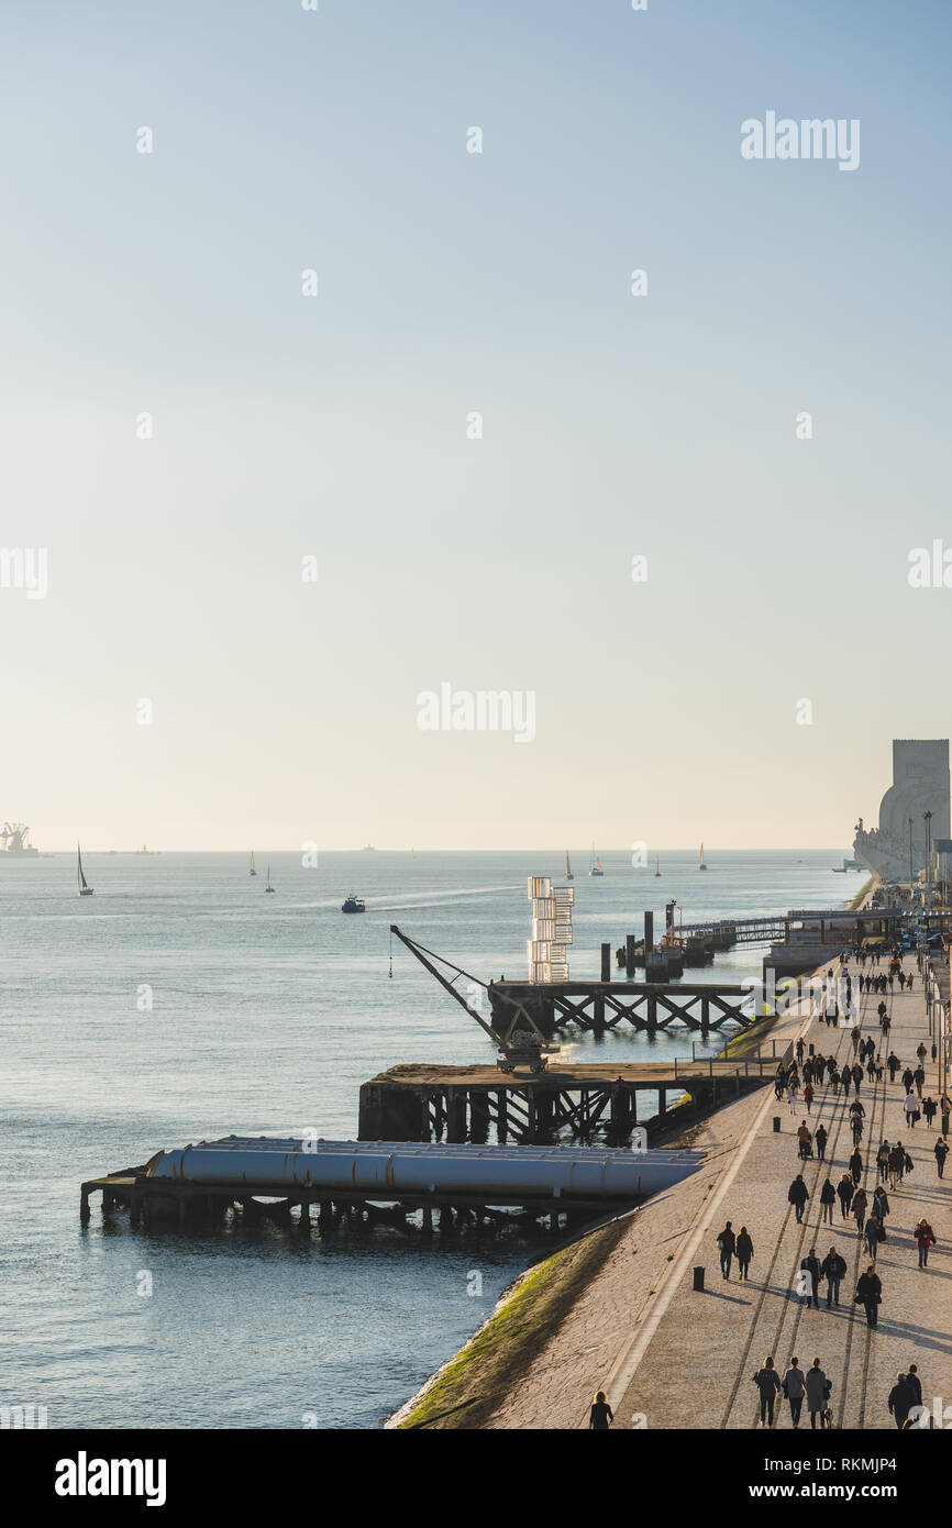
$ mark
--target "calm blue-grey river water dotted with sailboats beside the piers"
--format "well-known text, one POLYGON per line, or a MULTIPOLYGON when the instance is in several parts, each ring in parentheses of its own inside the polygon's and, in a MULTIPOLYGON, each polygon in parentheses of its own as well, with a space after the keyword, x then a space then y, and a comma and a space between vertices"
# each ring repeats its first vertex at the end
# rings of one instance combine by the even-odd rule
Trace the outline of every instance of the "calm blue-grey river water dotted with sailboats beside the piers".
MULTIPOLYGON (((576 869, 573 976, 599 943, 677 897, 685 921, 842 906, 842 851, 662 854, 663 876, 605 854, 576 869)), ((237 854, 0 860, 3 1007, 0 1404, 50 1427, 376 1427, 492 1309, 541 1241, 420 1244, 411 1232, 275 1227, 180 1235, 79 1225, 79 1183, 203 1137, 316 1129, 353 1138, 361 1082, 397 1062, 486 1062, 492 1047, 390 923, 487 979, 521 976, 527 874, 552 854, 272 854, 277 895, 237 854), (344 894, 367 897, 344 917, 344 894), (145 1007, 151 990, 151 1008, 145 1007), (474 1297, 469 1273, 481 1276, 474 1297), (139 1293, 151 1280, 151 1294, 139 1293)), ((759 975, 733 950, 686 979, 759 975)), ((720 1042, 712 1036, 712 1048, 720 1042)), ((573 1042, 591 1059, 689 1054, 683 1036, 573 1042)), ((698 1045, 700 1051, 700 1045, 698 1045)))

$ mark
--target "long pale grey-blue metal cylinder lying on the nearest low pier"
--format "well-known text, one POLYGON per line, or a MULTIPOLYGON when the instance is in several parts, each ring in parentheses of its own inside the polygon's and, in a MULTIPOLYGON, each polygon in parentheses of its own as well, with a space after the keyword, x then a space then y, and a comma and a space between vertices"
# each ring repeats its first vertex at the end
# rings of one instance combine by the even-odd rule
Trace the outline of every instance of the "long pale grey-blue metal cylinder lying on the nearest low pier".
POLYGON ((494 1193, 512 1198, 636 1199, 695 1172, 692 1151, 597 1146, 455 1146, 413 1141, 309 1141, 231 1135, 157 1152, 153 1178, 223 1187, 388 1195, 494 1193))

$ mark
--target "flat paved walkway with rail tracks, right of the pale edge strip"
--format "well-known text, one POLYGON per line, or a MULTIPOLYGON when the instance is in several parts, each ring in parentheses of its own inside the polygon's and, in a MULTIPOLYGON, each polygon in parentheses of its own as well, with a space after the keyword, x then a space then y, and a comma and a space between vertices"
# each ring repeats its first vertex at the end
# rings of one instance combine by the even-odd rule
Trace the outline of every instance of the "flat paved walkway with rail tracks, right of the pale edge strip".
MULTIPOLYGON (((883 966, 879 967, 880 970, 883 966)), ((924 989, 915 973, 911 993, 886 995, 892 1028, 889 1042, 903 1063, 915 1067, 915 1047, 928 1038, 924 989)), ((856 976, 857 963, 850 963, 856 976)), ((871 970, 869 963, 865 967, 871 970)), ((876 1015, 879 995, 860 999, 863 1036, 880 1038, 876 1015)), ((788 1024, 792 1021, 787 1021, 788 1024)), ((807 1044, 824 1054, 834 1048, 837 1062, 851 1054, 848 1030, 828 1028, 818 1019, 796 1019, 796 1028, 807 1044)), ((889 1047, 880 1047, 883 1057, 889 1047)), ((938 1099, 937 1068, 926 1059, 924 1096, 938 1099)), ((883 1135, 902 1138, 915 1164, 914 1172, 895 1192, 889 1193, 886 1242, 880 1245, 877 1271, 883 1285, 879 1328, 866 1326, 863 1308, 853 1303, 856 1279, 868 1264, 853 1219, 840 1218, 834 1204, 833 1227, 821 1225, 819 1190, 830 1174, 833 1184, 847 1170, 853 1151, 848 1128, 848 1105, 842 1089, 833 1097, 827 1086, 818 1089, 810 1128, 822 1120, 828 1131, 827 1161, 814 1158, 804 1178, 810 1203, 802 1225, 796 1224, 787 1189, 799 1170, 796 1128, 805 1117, 798 1106, 790 1117, 785 1102, 778 1105, 773 1089, 756 1100, 743 1143, 726 1157, 724 1169, 706 1196, 697 1222, 685 1230, 669 1264, 663 1287, 654 1293, 651 1313, 634 1331, 627 1349, 619 1355, 607 1378, 605 1389, 616 1409, 616 1427, 631 1427, 640 1413, 648 1427, 752 1427, 758 1415, 758 1394, 752 1375, 770 1354, 776 1368, 785 1369, 792 1354, 802 1369, 819 1357, 827 1378, 833 1381, 831 1407, 834 1426, 848 1429, 894 1427, 886 1397, 897 1372, 918 1365, 923 1400, 932 1404, 943 1397, 952 1407, 952 1161, 944 1181, 938 1181, 932 1148, 938 1135, 938 1118, 932 1129, 924 1118, 914 1129, 905 1128, 902 1105, 905 1089, 902 1071, 889 1082, 860 1088, 866 1109, 862 1154, 863 1187, 873 1198, 877 1183, 876 1151, 883 1135), (781 1134, 773 1132, 773 1115, 781 1115, 781 1134), (920 1216, 926 1216, 935 1232, 937 1247, 929 1254, 929 1267, 918 1268, 918 1253, 911 1232, 920 1216), (717 1235, 724 1221, 733 1230, 747 1225, 753 1239, 750 1282, 732 1276, 724 1280, 718 1267, 717 1235), (847 1259, 848 1273, 842 1284, 839 1309, 825 1308, 825 1284, 821 1285, 821 1308, 810 1308, 798 1293, 801 1259, 811 1247, 818 1256, 831 1245, 847 1259), (691 1268, 706 1267, 706 1290, 692 1288, 691 1268)), ((950 1410, 952 1418, 952 1410, 950 1410)), ((516 1424, 518 1426, 518 1424, 516 1424)), ((579 1418, 575 1426, 585 1426, 579 1418)), ((779 1407, 778 1427, 790 1427, 790 1410, 779 1407)), ((808 1420, 807 1420, 808 1426, 808 1420)))

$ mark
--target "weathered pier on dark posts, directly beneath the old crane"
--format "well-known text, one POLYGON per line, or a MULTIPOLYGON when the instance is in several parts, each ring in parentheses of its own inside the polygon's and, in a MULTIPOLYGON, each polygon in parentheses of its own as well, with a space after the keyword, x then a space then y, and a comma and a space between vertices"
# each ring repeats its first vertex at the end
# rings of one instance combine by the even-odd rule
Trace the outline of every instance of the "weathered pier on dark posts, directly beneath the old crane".
POLYGON ((539 1076, 504 1074, 495 1067, 391 1067, 361 1088, 358 1137, 536 1146, 564 1134, 582 1144, 623 1146, 637 1126, 651 1138, 672 1123, 668 1100, 689 1096, 677 1115, 688 1123, 763 1086, 775 1073, 775 1056, 550 1065, 539 1076), (640 1115, 639 1094, 657 1099, 640 1115))

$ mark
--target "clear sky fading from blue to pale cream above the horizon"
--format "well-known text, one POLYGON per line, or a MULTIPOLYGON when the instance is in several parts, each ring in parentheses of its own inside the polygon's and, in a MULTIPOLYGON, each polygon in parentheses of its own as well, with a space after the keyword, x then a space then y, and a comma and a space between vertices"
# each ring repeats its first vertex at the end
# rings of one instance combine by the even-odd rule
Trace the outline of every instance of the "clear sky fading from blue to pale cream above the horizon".
POLYGON ((0 821, 845 847, 952 730, 952 590, 908 578, 952 549, 946 0, 0 37, 0 555, 47 568, 0 561, 0 821), (859 167, 744 159, 769 112, 857 119, 859 167), (533 726, 425 730, 443 685, 533 726))

